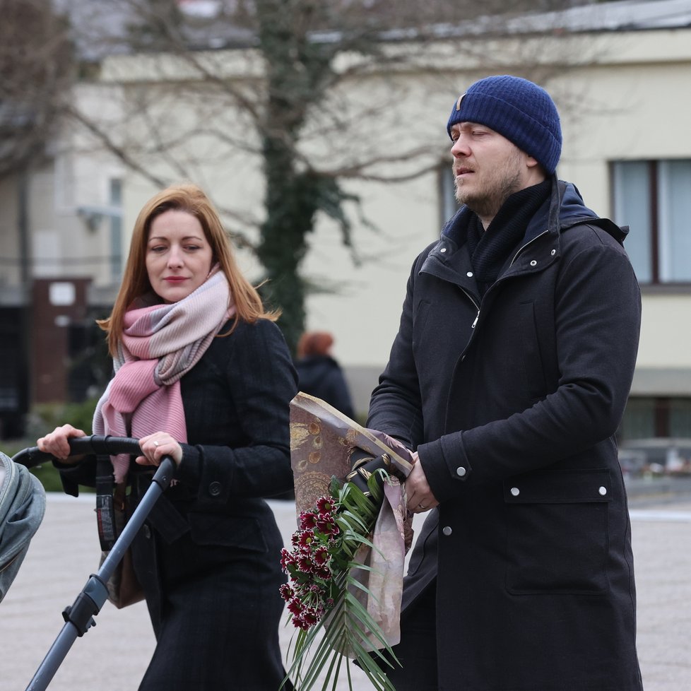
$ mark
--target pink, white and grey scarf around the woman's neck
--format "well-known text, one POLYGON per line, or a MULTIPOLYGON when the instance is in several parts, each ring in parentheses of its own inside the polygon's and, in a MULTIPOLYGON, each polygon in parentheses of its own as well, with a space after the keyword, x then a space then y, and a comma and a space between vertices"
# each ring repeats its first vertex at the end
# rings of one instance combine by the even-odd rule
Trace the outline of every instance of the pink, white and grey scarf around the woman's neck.
MULTIPOLYGON (((135 300, 126 312, 115 376, 96 405, 95 435, 140 439, 168 432, 187 442, 180 378, 189 372, 221 326, 235 314, 223 271, 171 305, 135 300)), ((115 482, 122 482, 129 456, 112 456, 115 482)))

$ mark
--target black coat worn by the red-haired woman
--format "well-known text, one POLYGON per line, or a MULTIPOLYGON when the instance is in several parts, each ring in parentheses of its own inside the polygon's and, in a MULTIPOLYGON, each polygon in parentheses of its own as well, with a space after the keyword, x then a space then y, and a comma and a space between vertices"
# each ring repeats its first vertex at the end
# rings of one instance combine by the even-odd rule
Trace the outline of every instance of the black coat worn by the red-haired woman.
MULTIPOLYGON (((141 690, 277 690, 283 540, 262 497, 293 488, 297 375, 278 327, 262 319, 214 338, 180 382, 188 442, 177 484, 133 543, 157 637, 141 690)), ((136 501, 151 473, 132 470, 136 501)))

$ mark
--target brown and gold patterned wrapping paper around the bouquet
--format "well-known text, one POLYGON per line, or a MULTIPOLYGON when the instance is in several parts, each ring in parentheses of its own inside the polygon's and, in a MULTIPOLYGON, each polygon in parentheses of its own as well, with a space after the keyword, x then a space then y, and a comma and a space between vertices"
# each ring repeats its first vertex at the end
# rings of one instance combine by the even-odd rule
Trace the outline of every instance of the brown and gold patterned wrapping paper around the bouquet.
MULTIPOLYGON (((350 472, 350 454, 355 447, 372 456, 389 454, 394 471, 403 478, 413 467, 413 454, 384 432, 369 430, 320 398, 298 393, 290 403, 290 459, 295 478, 295 511, 311 509, 319 497, 329 495, 332 476, 345 480, 350 472)), ((372 548, 363 547, 356 560, 371 570, 353 569, 366 591, 351 592, 379 625, 389 645, 400 641, 401 593, 406 550, 412 538, 402 483, 392 476, 384 483, 384 501, 372 533, 372 548)), ((328 626, 328 622, 327 622, 328 626)), ((384 647, 371 632, 363 641, 366 649, 384 647)), ((343 650, 352 657, 352 651, 343 650)))

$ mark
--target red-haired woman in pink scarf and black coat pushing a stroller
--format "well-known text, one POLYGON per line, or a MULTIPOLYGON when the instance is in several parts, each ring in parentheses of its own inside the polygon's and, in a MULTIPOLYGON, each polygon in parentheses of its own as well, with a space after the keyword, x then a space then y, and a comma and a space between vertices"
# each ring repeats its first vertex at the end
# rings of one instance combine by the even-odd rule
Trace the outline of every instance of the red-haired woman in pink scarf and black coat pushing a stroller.
MULTIPOLYGON (((95 434, 140 439, 113 459, 136 502, 160 459, 176 482, 132 545, 156 648, 140 691, 278 689, 283 546, 261 497, 290 490, 288 348, 241 275, 211 202, 191 184, 139 214, 107 332, 115 374, 95 434)), ((94 483, 95 459, 68 458, 71 425, 38 439, 66 491, 94 483)), ((290 687, 290 685, 288 685, 290 687)))

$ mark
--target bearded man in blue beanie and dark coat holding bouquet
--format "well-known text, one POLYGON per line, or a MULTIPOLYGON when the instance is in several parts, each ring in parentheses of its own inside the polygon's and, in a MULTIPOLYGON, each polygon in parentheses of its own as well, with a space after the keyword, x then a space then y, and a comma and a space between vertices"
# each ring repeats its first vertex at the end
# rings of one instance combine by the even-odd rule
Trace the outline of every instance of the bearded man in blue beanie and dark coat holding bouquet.
POLYGON ((615 432, 636 361, 625 230, 560 182, 542 88, 454 104, 463 206, 415 260, 367 427, 418 453, 430 512, 403 592, 396 691, 641 690, 615 432))

